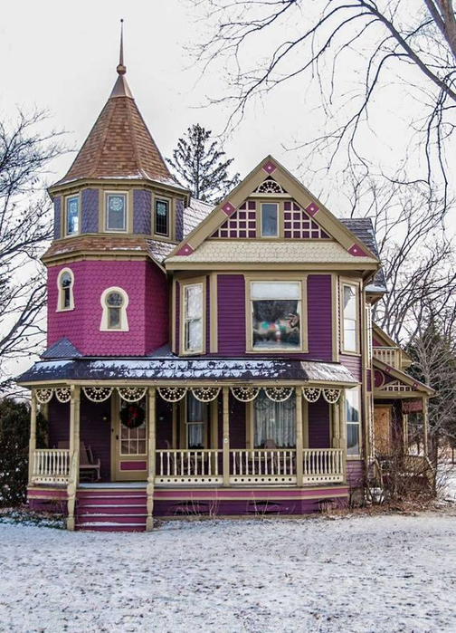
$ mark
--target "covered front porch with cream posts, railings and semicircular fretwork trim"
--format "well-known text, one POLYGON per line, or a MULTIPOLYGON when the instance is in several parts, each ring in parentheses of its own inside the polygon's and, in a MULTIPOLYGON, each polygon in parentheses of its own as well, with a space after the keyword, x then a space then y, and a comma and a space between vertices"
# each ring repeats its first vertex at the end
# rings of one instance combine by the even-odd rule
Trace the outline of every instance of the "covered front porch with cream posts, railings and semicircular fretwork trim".
POLYGON ((66 491, 72 529, 81 489, 142 482, 151 529, 160 490, 340 486, 344 391, 357 383, 337 364, 332 375, 318 371, 318 379, 308 368, 293 382, 252 375, 242 383, 229 376, 42 382, 32 388, 29 489, 66 491), (50 420, 47 447, 36 446, 38 405, 50 420))

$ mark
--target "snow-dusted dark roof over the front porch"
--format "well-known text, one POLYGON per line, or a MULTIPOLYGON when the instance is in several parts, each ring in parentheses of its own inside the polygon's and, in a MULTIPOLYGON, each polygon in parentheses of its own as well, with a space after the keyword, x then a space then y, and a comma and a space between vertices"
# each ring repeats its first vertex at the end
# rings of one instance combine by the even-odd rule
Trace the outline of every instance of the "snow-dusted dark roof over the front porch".
POLYGON ((357 380, 333 362, 290 359, 76 358, 42 360, 19 377, 22 385, 47 382, 286 381, 351 387, 357 380))

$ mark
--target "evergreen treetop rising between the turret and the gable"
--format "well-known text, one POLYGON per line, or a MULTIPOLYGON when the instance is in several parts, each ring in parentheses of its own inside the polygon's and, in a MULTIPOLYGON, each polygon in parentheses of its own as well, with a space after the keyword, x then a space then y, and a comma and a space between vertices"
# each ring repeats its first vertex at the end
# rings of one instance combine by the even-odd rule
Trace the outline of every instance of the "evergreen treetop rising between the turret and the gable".
POLYGON ((167 158, 176 177, 188 187, 198 200, 217 204, 240 182, 239 174, 230 177, 228 168, 234 158, 225 153, 216 140, 211 141, 212 131, 196 123, 188 128, 167 158))

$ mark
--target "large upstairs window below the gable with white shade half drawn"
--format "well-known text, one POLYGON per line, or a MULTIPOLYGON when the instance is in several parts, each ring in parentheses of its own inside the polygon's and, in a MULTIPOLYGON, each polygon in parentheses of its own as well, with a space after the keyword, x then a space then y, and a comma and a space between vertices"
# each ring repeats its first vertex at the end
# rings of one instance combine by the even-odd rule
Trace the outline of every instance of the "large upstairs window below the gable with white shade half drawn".
POLYGON ((301 350, 301 282, 251 282, 252 349, 301 350))

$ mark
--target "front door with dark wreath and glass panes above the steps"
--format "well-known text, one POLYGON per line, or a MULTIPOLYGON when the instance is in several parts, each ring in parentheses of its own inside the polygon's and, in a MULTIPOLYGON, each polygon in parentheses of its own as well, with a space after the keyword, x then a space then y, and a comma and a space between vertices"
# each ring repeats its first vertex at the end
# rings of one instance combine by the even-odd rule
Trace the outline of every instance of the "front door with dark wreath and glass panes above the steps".
POLYGON ((117 398, 113 407, 112 480, 147 480, 146 398, 128 403, 117 398))

